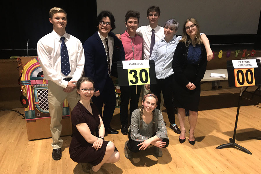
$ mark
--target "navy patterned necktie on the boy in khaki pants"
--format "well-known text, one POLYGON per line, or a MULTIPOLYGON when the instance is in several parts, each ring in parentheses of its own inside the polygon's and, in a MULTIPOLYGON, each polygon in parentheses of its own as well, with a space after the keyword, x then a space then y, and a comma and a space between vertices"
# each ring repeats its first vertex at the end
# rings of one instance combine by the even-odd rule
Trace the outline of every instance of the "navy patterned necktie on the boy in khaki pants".
POLYGON ((68 50, 64 42, 65 37, 61 37, 60 40, 62 40, 61 44, 61 73, 64 75, 68 75, 71 72, 70 69, 70 61, 69 61, 69 55, 68 50))

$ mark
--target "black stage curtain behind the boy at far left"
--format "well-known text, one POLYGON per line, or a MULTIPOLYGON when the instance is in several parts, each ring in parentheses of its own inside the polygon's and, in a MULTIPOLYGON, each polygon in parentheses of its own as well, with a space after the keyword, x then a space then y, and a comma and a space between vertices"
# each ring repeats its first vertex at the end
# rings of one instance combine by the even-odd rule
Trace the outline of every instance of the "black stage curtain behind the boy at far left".
POLYGON ((82 43, 97 31, 96 0, 5 0, 0 2, 0 6, 2 31, 0 59, 27 56, 27 39, 29 39, 29 56, 36 56, 37 41, 52 32, 49 10, 55 6, 67 12, 66 32, 77 37, 82 43))

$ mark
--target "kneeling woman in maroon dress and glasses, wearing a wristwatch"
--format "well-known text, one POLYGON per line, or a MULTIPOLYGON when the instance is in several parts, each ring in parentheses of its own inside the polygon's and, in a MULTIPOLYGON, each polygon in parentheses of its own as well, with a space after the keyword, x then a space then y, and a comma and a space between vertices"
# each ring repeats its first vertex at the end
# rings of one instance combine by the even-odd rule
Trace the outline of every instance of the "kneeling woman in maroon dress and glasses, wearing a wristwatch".
POLYGON ((81 163, 83 170, 90 173, 103 173, 99 170, 104 163, 119 161, 120 155, 113 142, 104 141, 105 128, 96 106, 90 103, 95 88, 93 81, 82 77, 77 81, 80 101, 72 112, 73 138, 70 144, 70 157, 81 163), (99 137, 94 136, 95 129, 99 137))

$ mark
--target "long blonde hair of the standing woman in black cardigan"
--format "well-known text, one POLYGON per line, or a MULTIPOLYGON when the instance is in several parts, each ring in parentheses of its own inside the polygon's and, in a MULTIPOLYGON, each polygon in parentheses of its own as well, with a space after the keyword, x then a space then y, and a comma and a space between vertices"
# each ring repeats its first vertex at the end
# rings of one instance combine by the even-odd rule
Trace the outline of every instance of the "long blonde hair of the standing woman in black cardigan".
POLYGON ((192 22, 196 25, 197 27, 197 33, 195 36, 195 44, 203 44, 201 37, 200 37, 200 26, 199 23, 197 22, 197 20, 195 18, 189 18, 185 21, 184 26, 183 26, 183 34, 182 34, 182 39, 180 40, 181 42, 183 42, 186 46, 189 46, 189 44, 192 43, 191 38, 189 37, 189 35, 186 32, 186 23, 188 22, 192 22))

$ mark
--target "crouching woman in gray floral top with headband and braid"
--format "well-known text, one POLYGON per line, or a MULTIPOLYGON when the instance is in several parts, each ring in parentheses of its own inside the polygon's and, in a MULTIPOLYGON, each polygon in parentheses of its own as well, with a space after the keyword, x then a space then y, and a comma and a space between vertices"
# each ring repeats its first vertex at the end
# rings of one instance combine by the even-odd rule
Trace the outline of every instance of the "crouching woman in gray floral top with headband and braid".
POLYGON ((168 147, 168 133, 163 116, 157 107, 157 96, 148 93, 142 100, 142 108, 136 109, 131 115, 129 140, 125 142, 125 156, 130 159, 132 152, 145 150, 150 144, 155 146, 155 153, 162 157, 161 148, 168 147))

